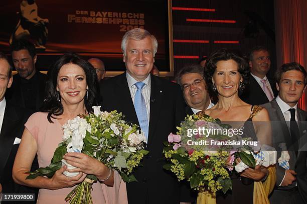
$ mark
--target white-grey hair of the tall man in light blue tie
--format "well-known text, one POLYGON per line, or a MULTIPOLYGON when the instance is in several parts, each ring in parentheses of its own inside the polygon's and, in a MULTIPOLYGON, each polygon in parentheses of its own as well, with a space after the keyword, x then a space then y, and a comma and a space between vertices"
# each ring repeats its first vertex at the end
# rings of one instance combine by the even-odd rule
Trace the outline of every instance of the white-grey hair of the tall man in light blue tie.
POLYGON ((134 28, 134 29, 127 31, 124 34, 124 36, 121 39, 122 53, 124 55, 126 55, 126 46, 127 46, 127 42, 128 42, 129 39, 141 40, 141 39, 144 39, 147 36, 149 36, 151 38, 152 47, 154 48, 154 56, 155 56, 155 54, 157 53, 157 50, 158 50, 157 38, 154 35, 150 34, 150 32, 148 32, 147 30, 142 29, 142 28, 134 28))

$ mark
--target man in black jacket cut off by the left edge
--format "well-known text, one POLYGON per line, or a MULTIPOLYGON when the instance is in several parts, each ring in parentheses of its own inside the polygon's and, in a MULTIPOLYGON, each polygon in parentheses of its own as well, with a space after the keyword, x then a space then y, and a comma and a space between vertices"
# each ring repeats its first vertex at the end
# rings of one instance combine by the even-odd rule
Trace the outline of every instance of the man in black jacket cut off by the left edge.
MULTIPOLYGON (((38 193, 35 188, 18 185, 12 177, 15 155, 19 147, 24 124, 30 111, 15 107, 4 97, 12 84, 12 66, 3 53, 0 53, 0 183, 3 193, 38 193)), ((8 201, 9 203, 18 203, 8 201)), ((35 203, 27 202, 27 203, 35 203)))

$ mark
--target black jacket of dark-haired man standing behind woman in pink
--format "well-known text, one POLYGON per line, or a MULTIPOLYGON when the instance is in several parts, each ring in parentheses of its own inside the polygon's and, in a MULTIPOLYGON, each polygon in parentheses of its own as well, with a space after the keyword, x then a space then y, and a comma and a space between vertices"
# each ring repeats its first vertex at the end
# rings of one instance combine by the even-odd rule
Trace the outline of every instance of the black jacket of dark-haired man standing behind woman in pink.
MULTIPOLYGON (((45 96, 45 86, 46 86, 46 74, 43 74, 39 72, 38 70, 35 72, 34 76, 35 82, 37 85, 37 91, 36 94, 33 95, 33 97, 36 98, 36 104, 35 109, 32 109, 32 112, 36 112, 39 110, 39 108, 42 106, 45 96)), ((9 103, 21 106, 21 107, 27 107, 27 104, 25 103, 25 99, 23 96, 23 92, 21 89, 21 76, 19 74, 15 74, 13 76, 13 83, 11 88, 7 89, 6 92, 6 99, 9 103)))

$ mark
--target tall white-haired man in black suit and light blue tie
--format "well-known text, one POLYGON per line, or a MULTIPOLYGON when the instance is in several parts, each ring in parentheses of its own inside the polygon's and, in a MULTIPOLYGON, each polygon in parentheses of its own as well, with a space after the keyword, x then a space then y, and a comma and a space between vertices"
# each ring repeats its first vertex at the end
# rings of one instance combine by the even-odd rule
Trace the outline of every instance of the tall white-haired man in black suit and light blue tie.
MULTIPOLYGON (((139 124, 147 138, 149 154, 127 183, 129 203, 180 203, 190 194, 181 192, 177 178, 163 169, 163 141, 185 117, 184 100, 176 83, 151 75, 158 42, 147 30, 126 32, 121 48, 126 72, 105 80, 101 88, 102 108, 117 110, 127 121, 139 124)), ((189 191, 190 193, 190 191, 189 191)))

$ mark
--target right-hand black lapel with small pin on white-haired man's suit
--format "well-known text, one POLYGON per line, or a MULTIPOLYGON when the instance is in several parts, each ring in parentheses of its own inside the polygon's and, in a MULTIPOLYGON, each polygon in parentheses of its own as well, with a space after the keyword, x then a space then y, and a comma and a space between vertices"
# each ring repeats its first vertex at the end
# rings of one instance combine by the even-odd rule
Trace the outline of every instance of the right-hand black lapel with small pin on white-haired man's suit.
POLYGON ((160 116, 161 105, 163 102, 164 90, 161 86, 161 81, 156 76, 151 76, 150 87, 150 113, 149 113, 149 130, 148 130, 148 142, 150 145, 154 135, 160 116))

